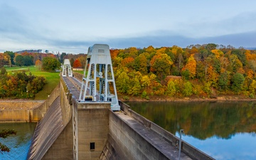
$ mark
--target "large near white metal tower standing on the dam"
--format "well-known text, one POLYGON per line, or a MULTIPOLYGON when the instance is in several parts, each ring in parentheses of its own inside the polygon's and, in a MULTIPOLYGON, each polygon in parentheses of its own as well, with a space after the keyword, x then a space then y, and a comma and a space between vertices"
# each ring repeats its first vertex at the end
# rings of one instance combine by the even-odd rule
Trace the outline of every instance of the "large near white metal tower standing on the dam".
POLYGON ((95 44, 88 48, 79 100, 111 102, 111 110, 120 110, 108 45, 95 44))

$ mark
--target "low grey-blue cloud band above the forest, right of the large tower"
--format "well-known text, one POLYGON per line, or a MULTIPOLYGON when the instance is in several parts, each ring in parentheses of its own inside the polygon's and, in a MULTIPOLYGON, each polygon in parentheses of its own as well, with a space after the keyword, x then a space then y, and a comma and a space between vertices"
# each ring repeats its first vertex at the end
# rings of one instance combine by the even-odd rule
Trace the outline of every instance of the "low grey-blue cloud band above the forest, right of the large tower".
POLYGON ((235 47, 255 47, 256 32, 230 34, 225 36, 206 37, 206 38, 189 38, 186 36, 166 35, 159 36, 143 36, 139 38, 117 38, 110 41, 110 45, 116 48, 127 48, 129 46, 144 48, 147 46, 181 46, 186 47, 191 44, 216 43, 223 45, 231 45, 235 47))

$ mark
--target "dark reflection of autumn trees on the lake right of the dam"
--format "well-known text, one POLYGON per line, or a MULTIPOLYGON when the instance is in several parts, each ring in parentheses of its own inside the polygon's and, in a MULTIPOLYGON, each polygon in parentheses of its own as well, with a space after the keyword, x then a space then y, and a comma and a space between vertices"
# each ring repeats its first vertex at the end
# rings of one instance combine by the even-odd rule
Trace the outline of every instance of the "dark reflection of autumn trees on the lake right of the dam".
POLYGON ((255 102, 128 102, 132 110, 175 134, 230 139, 256 132, 255 102))

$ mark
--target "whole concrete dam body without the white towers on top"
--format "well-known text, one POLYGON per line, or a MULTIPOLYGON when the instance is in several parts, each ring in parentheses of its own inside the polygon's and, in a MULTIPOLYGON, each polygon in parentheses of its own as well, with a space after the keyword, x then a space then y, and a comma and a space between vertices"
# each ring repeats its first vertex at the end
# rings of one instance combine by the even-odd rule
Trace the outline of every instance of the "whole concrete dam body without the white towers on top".
MULTIPOLYGON (((60 97, 36 127, 28 159, 178 159, 178 138, 119 102, 78 102, 78 80, 63 78, 60 97)), ((181 159, 213 159, 182 142, 181 159)))

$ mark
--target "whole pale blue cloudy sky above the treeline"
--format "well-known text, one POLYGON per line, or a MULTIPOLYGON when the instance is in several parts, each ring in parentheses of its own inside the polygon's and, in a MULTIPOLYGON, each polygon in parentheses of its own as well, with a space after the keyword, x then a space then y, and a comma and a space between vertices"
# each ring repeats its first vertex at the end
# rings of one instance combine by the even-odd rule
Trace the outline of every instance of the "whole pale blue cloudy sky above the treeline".
POLYGON ((0 52, 87 53, 215 43, 256 47, 255 0, 0 0, 0 52))

